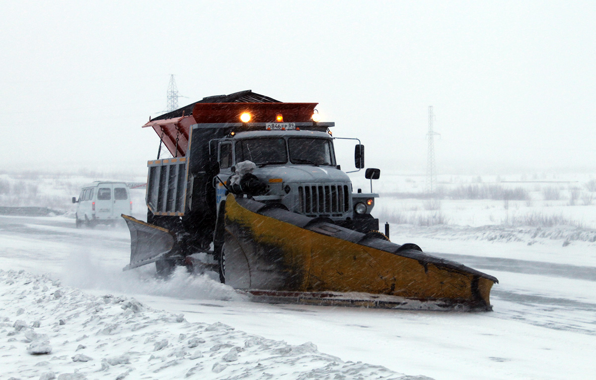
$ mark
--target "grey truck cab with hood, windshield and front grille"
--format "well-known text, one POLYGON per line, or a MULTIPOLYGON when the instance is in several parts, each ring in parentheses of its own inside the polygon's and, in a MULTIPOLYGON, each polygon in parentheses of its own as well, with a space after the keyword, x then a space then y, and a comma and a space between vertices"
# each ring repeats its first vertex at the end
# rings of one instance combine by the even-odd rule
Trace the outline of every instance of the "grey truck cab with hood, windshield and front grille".
MULTIPOLYGON (((329 133, 253 130, 230 133, 218 139, 217 145, 220 179, 229 179, 238 163, 255 164, 252 174, 265 182, 266 192, 253 195, 254 200, 280 203, 294 213, 324 217, 359 232, 378 230, 378 219, 370 214, 378 194, 352 193, 349 176, 337 164, 329 133)), ((222 180, 214 181, 218 205, 228 192, 222 180)))

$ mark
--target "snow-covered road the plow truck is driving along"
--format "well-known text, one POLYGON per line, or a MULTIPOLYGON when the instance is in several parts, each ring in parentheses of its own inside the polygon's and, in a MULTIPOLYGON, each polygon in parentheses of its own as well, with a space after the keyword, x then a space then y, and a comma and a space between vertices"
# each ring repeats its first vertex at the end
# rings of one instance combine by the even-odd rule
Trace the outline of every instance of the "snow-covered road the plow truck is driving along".
MULTIPOLYGON (((393 226, 393 231, 399 231, 393 226)), ((596 373, 596 246, 430 239, 429 253, 496 276, 491 313, 412 312, 268 305, 244 301, 209 276, 179 270, 167 282, 153 268, 122 272, 126 228, 75 229, 66 217, 0 216, 1 269, 60 278, 95 295, 133 296, 189 322, 318 350, 343 360, 443 379, 569 379, 596 373), (448 252, 450 254, 441 254, 448 252)), ((215 278, 215 276, 214 276, 215 278)))

